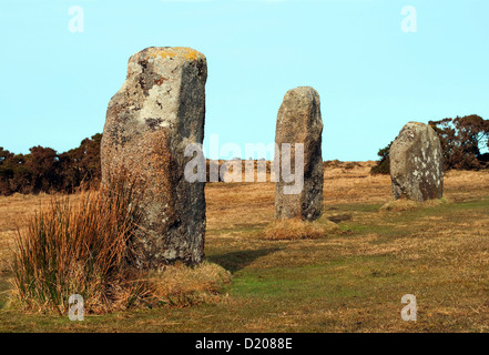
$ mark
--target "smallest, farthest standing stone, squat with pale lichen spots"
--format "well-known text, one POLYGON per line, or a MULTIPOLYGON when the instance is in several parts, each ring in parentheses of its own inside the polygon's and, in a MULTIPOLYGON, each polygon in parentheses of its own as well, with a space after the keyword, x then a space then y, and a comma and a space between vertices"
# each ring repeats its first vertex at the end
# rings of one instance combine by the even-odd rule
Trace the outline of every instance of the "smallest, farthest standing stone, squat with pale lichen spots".
POLYGON ((390 146, 394 197, 412 201, 441 199, 444 155, 440 140, 425 123, 409 122, 390 146))

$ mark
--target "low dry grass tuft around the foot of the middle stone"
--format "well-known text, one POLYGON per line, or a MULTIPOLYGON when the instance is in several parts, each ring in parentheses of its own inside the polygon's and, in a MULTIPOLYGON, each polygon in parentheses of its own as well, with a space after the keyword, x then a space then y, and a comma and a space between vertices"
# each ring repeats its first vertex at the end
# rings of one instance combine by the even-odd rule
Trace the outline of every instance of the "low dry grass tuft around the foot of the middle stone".
POLYGON ((318 239, 327 233, 339 231, 330 221, 308 222, 300 219, 284 219, 272 222, 263 232, 266 240, 318 239))

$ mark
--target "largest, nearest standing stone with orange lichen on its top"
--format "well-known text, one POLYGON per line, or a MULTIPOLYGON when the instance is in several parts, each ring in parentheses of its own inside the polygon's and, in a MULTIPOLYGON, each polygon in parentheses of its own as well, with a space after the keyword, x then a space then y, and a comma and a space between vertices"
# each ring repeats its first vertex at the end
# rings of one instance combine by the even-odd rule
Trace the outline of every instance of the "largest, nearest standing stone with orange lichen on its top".
POLYGON ((204 139, 206 79, 202 53, 147 48, 130 58, 128 78, 109 103, 102 181, 123 170, 145 185, 143 220, 134 239, 137 267, 203 260, 204 182, 185 180, 192 156, 184 150, 204 139))

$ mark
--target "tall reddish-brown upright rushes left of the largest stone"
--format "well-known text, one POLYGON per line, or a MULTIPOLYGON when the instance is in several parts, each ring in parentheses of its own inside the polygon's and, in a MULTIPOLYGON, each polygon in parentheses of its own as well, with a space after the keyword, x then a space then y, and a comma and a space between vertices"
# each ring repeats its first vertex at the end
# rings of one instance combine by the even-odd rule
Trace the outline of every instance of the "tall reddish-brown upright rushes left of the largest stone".
POLYGON ((16 237, 13 301, 65 313, 71 294, 86 312, 123 308, 141 285, 131 282, 130 239, 141 217, 134 184, 113 179, 99 191, 53 197, 16 237))

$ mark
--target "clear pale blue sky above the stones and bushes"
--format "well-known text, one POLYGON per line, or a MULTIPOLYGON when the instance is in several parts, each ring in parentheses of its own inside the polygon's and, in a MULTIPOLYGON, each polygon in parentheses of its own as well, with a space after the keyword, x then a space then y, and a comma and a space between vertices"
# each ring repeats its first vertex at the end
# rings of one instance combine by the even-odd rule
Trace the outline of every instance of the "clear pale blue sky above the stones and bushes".
POLYGON ((78 146, 102 132, 129 57, 177 45, 207 58, 204 148, 273 142, 285 92, 310 85, 323 158, 375 160, 408 121, 489 119, 488 17, 487 0, 2 0, 0 146, 78 146))

